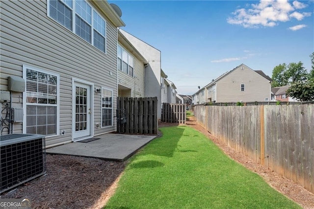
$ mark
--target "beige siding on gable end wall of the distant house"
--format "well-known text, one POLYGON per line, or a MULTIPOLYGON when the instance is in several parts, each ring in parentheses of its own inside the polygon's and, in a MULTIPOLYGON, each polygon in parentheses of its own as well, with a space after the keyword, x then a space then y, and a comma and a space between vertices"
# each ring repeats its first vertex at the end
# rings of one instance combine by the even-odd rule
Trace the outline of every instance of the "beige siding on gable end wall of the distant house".
POLYGON ((217 81, 217 102, 251 102, 270 100, 269 80, 245 66, 241 66, 217 81), (245 91, 241 92, 241 84, 245 91))

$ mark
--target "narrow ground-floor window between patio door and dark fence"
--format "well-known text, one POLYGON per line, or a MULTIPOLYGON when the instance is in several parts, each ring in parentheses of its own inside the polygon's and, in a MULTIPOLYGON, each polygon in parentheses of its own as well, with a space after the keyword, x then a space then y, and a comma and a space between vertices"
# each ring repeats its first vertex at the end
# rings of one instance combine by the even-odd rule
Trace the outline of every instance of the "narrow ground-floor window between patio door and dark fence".
POLYGON ((112 126, 112 90, 102 88, 102 128, 112 126))

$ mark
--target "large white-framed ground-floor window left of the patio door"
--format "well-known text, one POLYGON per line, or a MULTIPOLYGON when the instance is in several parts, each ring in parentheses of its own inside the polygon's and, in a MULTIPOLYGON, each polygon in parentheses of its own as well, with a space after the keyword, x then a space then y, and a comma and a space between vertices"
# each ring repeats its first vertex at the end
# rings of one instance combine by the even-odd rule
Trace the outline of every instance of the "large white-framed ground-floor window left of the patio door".
POLYGON ((23 66, 26 80, 26 134, 58 135, 59 80, 58 74, 23 66))

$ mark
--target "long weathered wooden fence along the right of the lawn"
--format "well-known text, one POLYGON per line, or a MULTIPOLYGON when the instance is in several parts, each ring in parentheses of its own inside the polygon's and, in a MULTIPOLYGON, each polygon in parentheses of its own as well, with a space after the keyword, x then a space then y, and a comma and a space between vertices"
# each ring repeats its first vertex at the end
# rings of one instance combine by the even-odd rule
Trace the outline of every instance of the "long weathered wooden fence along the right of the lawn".
POLYGON ((235 150, 314 192, 314 105, 195 106, 197 122, 235 150))

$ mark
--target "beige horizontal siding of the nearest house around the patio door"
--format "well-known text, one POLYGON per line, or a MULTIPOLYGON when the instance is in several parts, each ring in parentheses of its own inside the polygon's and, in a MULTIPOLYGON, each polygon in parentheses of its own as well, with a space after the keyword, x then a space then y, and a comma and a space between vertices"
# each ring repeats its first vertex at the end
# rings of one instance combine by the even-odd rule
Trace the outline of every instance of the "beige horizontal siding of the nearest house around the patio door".
MULTIPOLYGON (((7 77, 22 77, 27 65, 60 75, 60 130, 65 136, 46 138, 47 147, 71 142, 72 78, 113 90, 113 114, 117 96, 117 31, 106 20, 106 54, 47 16, 47 2, 1 1, 1 90, 7 90, 7 77), (109 75, 111 72, 111 75, 109 75)), ((101 93, 94 92, 94 134, 115 130, 95 128, 101 122, 101 93)), ((21 93, 14 93, 14 107, 22 107, 21 93)), ((25 122, 25 121, 24 121, 25 122)), ((22 133, 14 124, 13 133, 22 133)))

